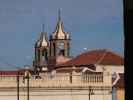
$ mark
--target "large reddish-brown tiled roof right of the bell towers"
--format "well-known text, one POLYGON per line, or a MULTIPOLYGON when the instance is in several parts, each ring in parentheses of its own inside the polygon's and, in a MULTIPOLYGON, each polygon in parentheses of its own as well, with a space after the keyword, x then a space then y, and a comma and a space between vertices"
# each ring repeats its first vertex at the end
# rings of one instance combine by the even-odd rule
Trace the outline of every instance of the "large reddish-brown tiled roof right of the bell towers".
POLYGON ((72 60, 62 64, 62 66, 82 64, 123 65, 124 59, 121 56, 105 49, 92 50, 73 58, 72 60))

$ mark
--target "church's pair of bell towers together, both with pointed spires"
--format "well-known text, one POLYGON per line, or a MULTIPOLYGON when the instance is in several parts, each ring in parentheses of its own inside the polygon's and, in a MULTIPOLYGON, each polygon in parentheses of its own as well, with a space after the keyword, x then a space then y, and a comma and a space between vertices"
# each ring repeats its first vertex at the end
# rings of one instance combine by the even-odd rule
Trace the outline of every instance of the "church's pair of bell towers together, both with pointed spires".
POLYGON ((34 71, 42 72, 52 70, 55 65, 70 60, 70 35, 64 31, 60 11, 55 31, 47 37, 41 32, 35 43, 34 71), (63 57, 63 59, 61 59, 63 57))

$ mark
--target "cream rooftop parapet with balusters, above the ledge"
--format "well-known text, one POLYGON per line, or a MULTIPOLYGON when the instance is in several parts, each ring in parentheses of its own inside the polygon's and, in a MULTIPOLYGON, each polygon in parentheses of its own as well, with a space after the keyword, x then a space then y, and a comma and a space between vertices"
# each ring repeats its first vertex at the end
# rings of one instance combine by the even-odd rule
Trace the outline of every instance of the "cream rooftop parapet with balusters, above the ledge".
MULTIPOLYGON (((19 77, 20 87, 26 86, 26 79, 23 76, 19 77)), ((0 87, 16 87, 16 76, 0 76, 0 87)), ((44 74, 41 79, 35 79, 35 76, 30 77, 30 87, 88 87, 88 86, 106 86, 104 84, 103 74, 44 74)))

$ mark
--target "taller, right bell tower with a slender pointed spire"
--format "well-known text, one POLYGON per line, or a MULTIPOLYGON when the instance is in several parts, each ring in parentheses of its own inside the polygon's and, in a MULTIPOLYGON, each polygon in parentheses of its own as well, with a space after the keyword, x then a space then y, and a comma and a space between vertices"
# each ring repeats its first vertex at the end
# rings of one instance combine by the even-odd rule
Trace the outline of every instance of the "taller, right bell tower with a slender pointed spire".
POLYGON ((64 32, 60 10, 58 11, 56 29, 50 36, 50 57, 56 58, 59 55, 63 55, 64 57, 70 56, 70 35, 64 32))

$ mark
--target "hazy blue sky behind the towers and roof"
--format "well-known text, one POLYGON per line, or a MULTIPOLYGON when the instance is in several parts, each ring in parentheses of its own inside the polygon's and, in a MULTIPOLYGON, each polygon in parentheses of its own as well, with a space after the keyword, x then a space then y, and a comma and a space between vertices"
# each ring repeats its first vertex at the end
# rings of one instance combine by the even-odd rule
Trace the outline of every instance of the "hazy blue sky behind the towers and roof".
POLYGON ((42 24, 52 34, 59 9, 72 56, 93 49, 124 56, 123 0, 0 0, 0 70, 32 65, 42 24))

